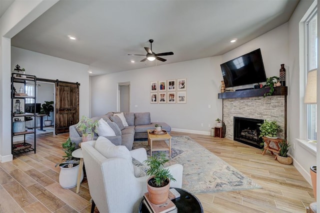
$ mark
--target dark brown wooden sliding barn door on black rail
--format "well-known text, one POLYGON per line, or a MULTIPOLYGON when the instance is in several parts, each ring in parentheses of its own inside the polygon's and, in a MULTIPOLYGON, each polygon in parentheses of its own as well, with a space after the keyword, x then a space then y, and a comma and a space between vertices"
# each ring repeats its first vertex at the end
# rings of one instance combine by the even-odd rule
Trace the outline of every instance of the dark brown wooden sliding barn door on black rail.
POLYGON ((55 134, 69 132, 79 120, 79 84, 55 82, 55 134))

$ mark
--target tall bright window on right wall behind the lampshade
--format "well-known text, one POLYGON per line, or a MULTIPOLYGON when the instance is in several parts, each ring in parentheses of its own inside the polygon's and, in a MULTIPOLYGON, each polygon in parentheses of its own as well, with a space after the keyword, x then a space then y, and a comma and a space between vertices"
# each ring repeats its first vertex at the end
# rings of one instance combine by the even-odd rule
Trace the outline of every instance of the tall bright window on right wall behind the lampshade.
MULTIPOLYGON (((317 68, 317 12, 314 10, 305 21, 306 72, 317 68)), ((306 83, 306 81, 305 81, 306 83)), ((316 104, 306 104, 307 139, 316 140, 316 104)))

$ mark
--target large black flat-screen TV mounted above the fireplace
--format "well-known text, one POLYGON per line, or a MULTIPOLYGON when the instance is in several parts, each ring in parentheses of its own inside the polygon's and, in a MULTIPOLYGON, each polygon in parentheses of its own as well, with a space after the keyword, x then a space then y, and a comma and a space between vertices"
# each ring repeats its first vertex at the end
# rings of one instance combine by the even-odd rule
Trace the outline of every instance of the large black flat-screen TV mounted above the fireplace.
POLYGON ((220 66, 225 87, 266 81, 260 49, 236 57, 220 66))

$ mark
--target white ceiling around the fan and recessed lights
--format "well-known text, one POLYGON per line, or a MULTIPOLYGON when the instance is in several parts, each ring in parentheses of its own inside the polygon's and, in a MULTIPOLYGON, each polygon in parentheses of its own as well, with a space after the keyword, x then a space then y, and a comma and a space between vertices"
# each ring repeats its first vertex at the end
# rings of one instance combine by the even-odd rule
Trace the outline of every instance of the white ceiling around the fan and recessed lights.
POLYGON ((298 0, 60 0, 12 46, 88 64, 91 75, 221 55, 288 21, 298 0), (67 35, 77 39, 70 40, 67 35), (230 43, 237 38, 235 43, 230 43), (167 61, 139 62, 153 39, 167 61), (136 62, 131 63, 133 59, 136 62))

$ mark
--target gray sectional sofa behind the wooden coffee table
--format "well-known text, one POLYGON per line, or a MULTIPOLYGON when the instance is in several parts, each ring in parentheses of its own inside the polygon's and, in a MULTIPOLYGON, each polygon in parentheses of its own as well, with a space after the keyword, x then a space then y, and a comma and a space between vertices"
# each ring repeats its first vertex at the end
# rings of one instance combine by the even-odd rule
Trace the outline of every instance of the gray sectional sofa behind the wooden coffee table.
MULTIPOLYGON (((171 127, 165 122, 151 122, 150 112, 123 112, 125 120, 128 126, 124 127, 122 122, 119 121, 118 116, 114 116, 114 113, 119 112, 108 112, 101 116, 92 117, 92 120, 103 120, 107 121, 110 124, 110 127, 113 128, 114 125, 117 125, 115 130, 115 136, 105 136, 115 145, 125 145, 129 150, 132 149, 132 144, 134 139, 144 139, 147 138, 147 129, 153 129, 154 125, 157 123, 162 126, 162 129, 166 130, 168 133, 171 131, 171 127)), ((69 137, 72 142, 75 142, 78 145, 82 142, 82 133, 76 129, 76 124, 69 126, 69 137)), ((97 138, 97 134, 94 132, 94 140, 97 138)))

